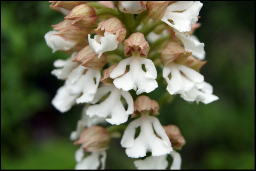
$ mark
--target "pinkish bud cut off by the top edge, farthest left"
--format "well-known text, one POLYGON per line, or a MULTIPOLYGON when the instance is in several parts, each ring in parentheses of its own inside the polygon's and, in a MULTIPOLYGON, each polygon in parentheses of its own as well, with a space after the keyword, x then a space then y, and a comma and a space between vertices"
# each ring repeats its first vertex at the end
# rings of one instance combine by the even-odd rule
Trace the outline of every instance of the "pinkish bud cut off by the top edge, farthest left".
POLYGON ((80 4, 85 4, 88 1, 49 1, 49 2, 52 3, 50 5, 52 9, 64 8, 66 10, 71 11, 75 6, 80 4))

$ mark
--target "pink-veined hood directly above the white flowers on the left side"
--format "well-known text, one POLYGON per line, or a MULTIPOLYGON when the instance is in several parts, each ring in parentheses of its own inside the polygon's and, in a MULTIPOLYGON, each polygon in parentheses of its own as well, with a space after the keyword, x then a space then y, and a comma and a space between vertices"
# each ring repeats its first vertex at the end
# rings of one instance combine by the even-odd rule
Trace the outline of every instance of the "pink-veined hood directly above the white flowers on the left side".
POLYGON ((106 64, 106 61, 106 56, 102 54, 101 58, 98 58, 98 54, 92 50, 90 45, 85 46, 81 51, 79 51, 76 58, 73 59, 73 62, 82 62, 82 66, 95 70, 101 70, 106 64))

